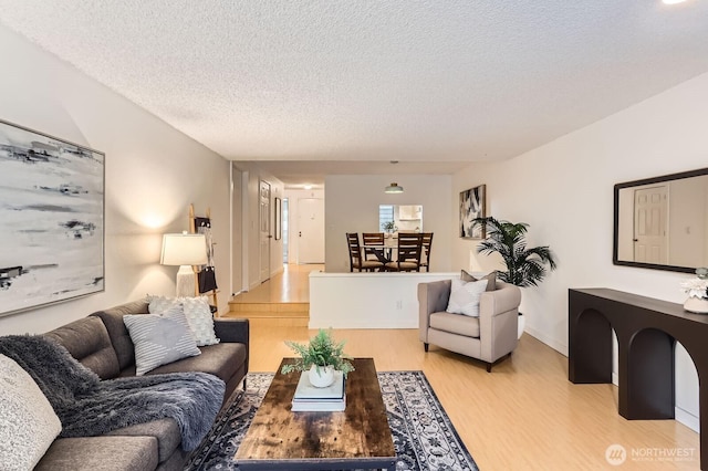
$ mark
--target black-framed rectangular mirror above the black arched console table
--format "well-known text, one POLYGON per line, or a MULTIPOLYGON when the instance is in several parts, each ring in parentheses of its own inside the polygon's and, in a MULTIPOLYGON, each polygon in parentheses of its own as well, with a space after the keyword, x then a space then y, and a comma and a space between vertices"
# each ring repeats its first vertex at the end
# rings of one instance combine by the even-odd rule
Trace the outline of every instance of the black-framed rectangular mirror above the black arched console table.
POLYGON ((616 265, 708 266, 708 168, 615 185, 616 265))

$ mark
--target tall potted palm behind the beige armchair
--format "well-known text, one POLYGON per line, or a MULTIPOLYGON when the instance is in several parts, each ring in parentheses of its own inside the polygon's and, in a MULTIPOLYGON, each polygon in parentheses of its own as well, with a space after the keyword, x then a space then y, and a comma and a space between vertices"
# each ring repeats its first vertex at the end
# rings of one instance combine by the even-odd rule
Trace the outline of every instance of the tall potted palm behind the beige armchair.
MULTIPOLYGON (((477 245, 477 252, 487 255, 497 252, 507 266, 507 271, 497 273, 499 280, 519 287, 537 286, 549 271, 555 270, 555 258, 548 245, 527 247, 529 224, 525 222, 509 222, 489 216, 473 219, 472 228, 477 226, 487 231, 487 239, 477 245)), ((524 324, 525 320, 519 313, 519 337, 524 324)))

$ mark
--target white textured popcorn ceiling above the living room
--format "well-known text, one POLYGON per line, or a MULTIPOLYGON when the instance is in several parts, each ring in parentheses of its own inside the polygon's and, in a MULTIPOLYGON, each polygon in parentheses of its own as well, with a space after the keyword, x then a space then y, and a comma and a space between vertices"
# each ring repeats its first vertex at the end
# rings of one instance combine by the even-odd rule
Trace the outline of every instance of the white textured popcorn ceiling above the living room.
POLYGON ((708 71, 705 0, 0 0, 0 22, 226 158, 358 172, 510 158, 708 71))

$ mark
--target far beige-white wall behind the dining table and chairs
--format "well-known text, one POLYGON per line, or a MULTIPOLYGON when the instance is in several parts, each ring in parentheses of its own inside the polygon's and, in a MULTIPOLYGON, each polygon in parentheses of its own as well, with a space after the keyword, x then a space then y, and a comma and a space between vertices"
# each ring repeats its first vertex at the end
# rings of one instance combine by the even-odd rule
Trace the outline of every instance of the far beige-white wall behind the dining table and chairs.
MULTIPOLYGON (((452 228, 449 208, 451 177, 445 175, 332 175, 325 178, 325 271, 348 272, 346 232, 381 232, 378 205, 423 205, 423 230, 434 232, 431 272, 468 268, 450 261, 452 228), (397 181, 405 191, 386 195, 384 188, 397 181)), ((457 203, 455 203, 457 208, 457 203)), ((457 214, 455 214, 457 223, 457 214)))

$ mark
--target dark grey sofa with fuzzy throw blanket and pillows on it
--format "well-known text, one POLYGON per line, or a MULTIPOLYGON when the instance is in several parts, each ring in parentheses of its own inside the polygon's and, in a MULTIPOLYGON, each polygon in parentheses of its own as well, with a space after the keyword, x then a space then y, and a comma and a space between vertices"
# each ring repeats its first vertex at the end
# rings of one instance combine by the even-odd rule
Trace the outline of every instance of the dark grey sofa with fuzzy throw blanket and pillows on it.
MULTIPOLYGON (((58 341, 101 379, 135 376, 133 342, 123 323, 126 314, 146 314, 146 301, 98 311, 44 334, 58 341)), ((241 381, 249 364, 248 320, 215 320, 220 343, 199 347, 201 355, 184 358, 148 373, 202 371, 226 383, 223 400, 241 381)), ((180 448, 173 419, 159 419, 114 430, 101 437, 58 438, 37 470, 180 470, 188 453, 180 448)))

